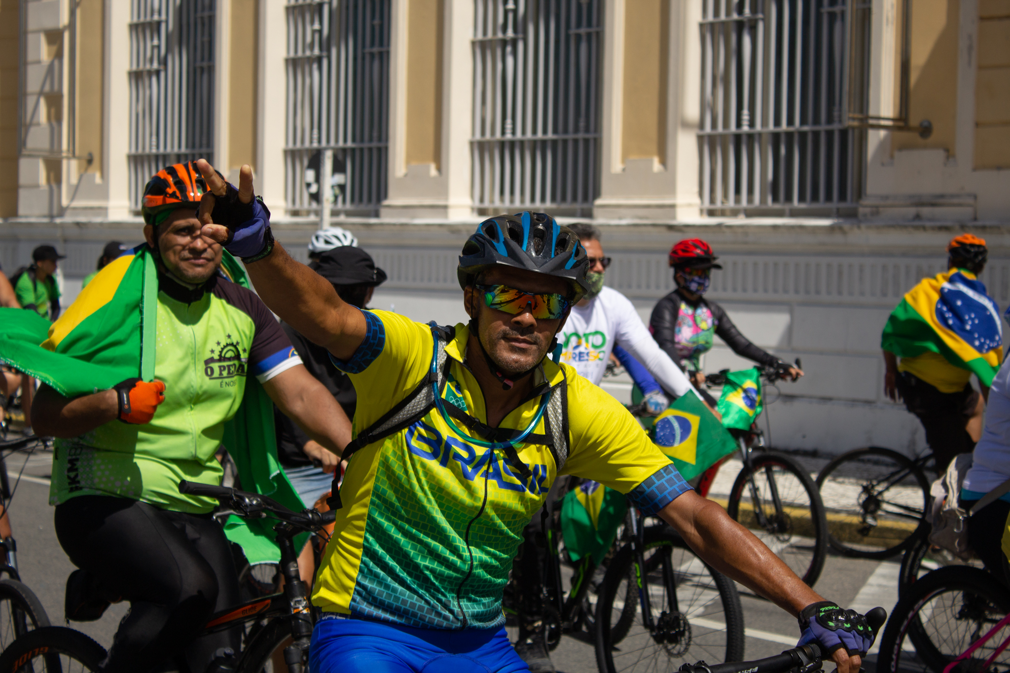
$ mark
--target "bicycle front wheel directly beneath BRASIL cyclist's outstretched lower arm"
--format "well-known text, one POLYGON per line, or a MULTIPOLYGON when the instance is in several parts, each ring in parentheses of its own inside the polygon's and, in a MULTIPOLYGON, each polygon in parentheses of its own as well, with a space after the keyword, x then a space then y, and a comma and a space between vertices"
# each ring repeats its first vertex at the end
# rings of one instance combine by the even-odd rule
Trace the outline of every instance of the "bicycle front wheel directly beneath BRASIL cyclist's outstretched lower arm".
POLYGON ((601 673, 669 673, 699 659, 713 664, 742 660, 743 610, 732 580, 666 526, 645 530, 643 556, 644 568, 636 568, 636 554, 624 545, 600 587, 596 662, 601 673), (643 619, 639 591, 648 597, 650 624, 643 619))

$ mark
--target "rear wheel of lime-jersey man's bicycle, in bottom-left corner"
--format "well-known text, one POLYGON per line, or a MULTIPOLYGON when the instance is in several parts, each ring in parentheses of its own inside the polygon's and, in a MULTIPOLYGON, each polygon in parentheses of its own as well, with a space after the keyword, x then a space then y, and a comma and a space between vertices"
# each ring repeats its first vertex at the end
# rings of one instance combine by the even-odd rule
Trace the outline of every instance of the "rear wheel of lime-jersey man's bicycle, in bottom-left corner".
POLYGON ((43 627, 21 636, 0 655, 3 673, 98 671, 105 648, 80 631, 43 627))

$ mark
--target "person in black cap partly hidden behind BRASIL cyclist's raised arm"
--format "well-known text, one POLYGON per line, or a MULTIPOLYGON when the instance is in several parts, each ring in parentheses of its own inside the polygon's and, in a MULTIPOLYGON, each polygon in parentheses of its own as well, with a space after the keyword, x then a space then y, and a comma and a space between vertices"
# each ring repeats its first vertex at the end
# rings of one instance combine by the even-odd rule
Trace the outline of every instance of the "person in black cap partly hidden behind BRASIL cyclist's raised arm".
MULTIPOLYGON (((364 309, 372 300, 377 286, 386 282, 386 271, 378 268, 372 256, 360 247, 343 245, 323 252, 309 265, 329 281, 336 294, 347 304, 364 309)), ((312 343, 285 322, 281 323, 305 368, 315 376, 330 395, 336 398, 348 419, 355 417, 358 394, 350 378, 334 367, 328 351, 312 343)), ((333 470, 339 469, 339 459, 322 445, 309 439, 291 419, 274 409, 277 426, 277 453, 291 485, 310 508, 325 495, 333 482, 333 470), (322 468, 322 469, 320 469, 322 468)), ((310 582, 315 571, 311 549, 306 546, 298 559, 302 578, 310 582)))

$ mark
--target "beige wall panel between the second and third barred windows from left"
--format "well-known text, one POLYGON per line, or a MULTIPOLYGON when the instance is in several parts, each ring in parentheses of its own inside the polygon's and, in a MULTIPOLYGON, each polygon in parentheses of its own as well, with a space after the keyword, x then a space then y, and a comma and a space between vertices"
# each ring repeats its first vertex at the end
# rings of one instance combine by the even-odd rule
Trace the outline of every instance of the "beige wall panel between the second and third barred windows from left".
POLYGON ((441 160, 441 0, 407 0, 406 164, 441 160))

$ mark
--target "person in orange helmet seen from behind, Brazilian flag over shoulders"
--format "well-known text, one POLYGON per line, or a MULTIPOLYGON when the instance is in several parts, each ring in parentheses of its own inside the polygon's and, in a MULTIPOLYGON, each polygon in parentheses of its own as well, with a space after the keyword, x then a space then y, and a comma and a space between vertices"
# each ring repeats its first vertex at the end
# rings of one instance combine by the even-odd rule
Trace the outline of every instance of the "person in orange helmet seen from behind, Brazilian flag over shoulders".
POLYGON ((922 422, 940 473, 982 435, 995 370, 975 355, 1002 359, 999 311, 977 277, 989 255, 986 241, 962 234, 947 244, 947 254, 948 270, 923 278, 905 296, 888 319, 882 344, 884 392, 922 422), (969 382, 973 373, 981 395, 969 382))

